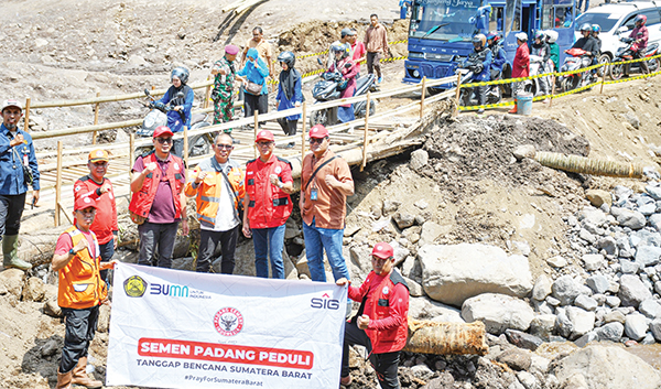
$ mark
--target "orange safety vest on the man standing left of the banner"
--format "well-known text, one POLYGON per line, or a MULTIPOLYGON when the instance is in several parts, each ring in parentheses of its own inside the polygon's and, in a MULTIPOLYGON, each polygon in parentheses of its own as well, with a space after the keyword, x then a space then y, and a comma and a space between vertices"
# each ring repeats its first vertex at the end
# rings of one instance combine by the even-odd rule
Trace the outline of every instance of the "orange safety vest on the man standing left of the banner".
MULTIPOLYGON (((68 234, 72 237, 74 247, 82 239, 86 239, 85 235, 76 228, 71 227, 63 234, 68 234)), ((99 305, 108 298, 108 287, 101 280, 99 274, 99 244, 96 235, 90 230, 94 238, 96 258, 91 258, 89 248, 78 251, 74 258, 62 269, 59 269, 59 283, 57 285, 57 305, 62 307, 71 307, 83 310, 99 305)))

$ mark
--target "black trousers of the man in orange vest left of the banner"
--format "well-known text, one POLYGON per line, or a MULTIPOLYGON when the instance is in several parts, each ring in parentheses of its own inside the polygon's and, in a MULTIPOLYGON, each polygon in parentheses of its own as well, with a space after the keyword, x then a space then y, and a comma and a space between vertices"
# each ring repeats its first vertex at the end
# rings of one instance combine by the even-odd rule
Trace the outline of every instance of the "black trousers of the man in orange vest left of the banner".
POLYGON ((59 372, 65 374, 76 367, 78 359, 87 355, 99 321, 99 306, 84 310, 63 307, 62 313, 66 322, 59 372))

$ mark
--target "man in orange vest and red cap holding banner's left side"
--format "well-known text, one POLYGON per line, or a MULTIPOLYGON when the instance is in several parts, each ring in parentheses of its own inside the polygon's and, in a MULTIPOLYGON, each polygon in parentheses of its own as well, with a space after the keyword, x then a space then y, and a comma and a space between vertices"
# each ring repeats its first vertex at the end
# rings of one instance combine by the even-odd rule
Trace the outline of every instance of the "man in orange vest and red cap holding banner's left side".
POLYGON ((87 349, 96 332, 99 305, 108 302, 108 287, 99 270, 112 268, 117 260, 100 262, 99 242, 90 230, 96 213, 94 198, 76 199, 75 225, 57 239, 51 262, 53 271, 59 273, 57 305, 66 320, 57 389, 69 389, 72 383, 87 388, 102 386, 87 376, 87 349))

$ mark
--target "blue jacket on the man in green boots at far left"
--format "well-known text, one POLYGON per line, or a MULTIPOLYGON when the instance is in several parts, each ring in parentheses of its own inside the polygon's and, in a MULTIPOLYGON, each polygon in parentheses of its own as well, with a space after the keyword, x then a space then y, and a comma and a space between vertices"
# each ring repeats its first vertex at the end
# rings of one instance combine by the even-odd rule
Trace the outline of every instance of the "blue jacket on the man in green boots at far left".
POLYGON ((28 192, 21 166, 25 156, 28 156, 28 166, 32 171, 32 188, 40 190, 39 166, 32 137, 22 130, 18 130, 18 133, 23 136, 25 143, 10 148, 11 134, 4 125, 0 126, 0 195, 18 195, 28 192))

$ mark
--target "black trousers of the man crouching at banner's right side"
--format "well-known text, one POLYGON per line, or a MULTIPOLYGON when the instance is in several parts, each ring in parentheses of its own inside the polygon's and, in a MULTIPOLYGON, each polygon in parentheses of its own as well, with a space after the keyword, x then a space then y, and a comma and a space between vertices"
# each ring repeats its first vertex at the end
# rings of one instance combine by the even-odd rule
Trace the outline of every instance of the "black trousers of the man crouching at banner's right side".
POLYGON ((342 377, 349 375, 349 346, 361 345, 370 353, 369 361, 377 372, 377 379, 382 389, 399 389, 397 370, 399 367, 400 352, 373 354, 371 341, 365 331, 358 328, 355 320, 345 325, 344 348, 342 352, 342 377))

